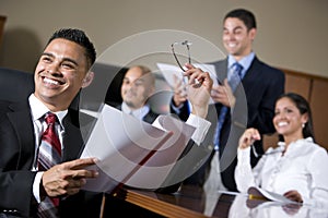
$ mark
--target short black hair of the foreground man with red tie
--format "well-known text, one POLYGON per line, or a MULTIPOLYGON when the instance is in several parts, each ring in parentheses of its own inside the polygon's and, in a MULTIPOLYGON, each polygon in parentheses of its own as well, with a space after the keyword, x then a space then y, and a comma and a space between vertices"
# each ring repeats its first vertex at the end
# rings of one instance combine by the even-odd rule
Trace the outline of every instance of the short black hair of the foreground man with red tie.
POLYGON ((96 51, 94 45, 90 41, 86 34, 78 28, 60 28, 56 31, 49 38, 47 46, 56 38, 63 38, 73 43, 79 44, 85 49, 85 57, 89 61, 90 68, 96 60, 96 51))

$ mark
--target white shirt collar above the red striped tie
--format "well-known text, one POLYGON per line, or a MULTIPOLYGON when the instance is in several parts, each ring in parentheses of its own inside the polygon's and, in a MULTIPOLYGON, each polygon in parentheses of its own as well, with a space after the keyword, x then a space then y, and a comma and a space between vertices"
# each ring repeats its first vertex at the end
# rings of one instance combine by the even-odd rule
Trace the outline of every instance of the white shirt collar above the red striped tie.
MULTIPOLYGON (((39 99, 37 99, 34 94, 31 94, 31 96, 28 97, 28 102, 33 121, 39 120, 45 113, 49 112, 49 109, 39 99)), ((63 128, 62 120, 68 113, 68 110, 52 113, 57 116, 60 125, 63 128)))

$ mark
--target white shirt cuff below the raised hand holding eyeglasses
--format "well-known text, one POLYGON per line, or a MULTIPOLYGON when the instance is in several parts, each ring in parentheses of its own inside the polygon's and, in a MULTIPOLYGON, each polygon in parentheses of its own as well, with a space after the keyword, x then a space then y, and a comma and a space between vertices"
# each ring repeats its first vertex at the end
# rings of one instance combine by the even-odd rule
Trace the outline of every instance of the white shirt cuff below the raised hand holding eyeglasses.
POLYGON ((196 128, 191 140, 194 140, 196 144, 200 145, 211 126, 211 122, 190 113, 186 123, 196 128))

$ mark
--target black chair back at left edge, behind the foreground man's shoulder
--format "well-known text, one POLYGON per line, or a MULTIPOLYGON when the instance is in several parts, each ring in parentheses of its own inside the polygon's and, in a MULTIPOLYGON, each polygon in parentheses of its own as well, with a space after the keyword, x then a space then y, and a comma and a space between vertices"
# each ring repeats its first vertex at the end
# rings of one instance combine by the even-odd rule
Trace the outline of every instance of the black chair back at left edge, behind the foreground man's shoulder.
POLYGON ((33 73, 0 68, 0 100, 26 100, 33 90, 33 73))

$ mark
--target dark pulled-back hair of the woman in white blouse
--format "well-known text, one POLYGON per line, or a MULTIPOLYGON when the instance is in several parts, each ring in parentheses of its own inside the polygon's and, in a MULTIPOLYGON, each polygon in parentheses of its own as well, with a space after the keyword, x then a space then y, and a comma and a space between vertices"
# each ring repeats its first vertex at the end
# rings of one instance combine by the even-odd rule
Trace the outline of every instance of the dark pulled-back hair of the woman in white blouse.
MULTIPOLYGON (((303 133, 303 137, 306 138, 306 137, 312 137, 315 142, 315 135, 314 135, 314 129, 313 129, 313 120, 312 120, 312 112, 311 112, 311 107, 309 107, 309 104, 307 102, 307 100, 296 94, 296 93, 285 93, 285 94, 282 94, 278 99, 281 99, 281 98, 289 98, 290 100, 292 100, 296 108, 300 110, 301 114, 305 114, 307 113, 307 122, 305 123, 305 126, 303 128, 302 130, 302 133, 303 133)), ((277 102, 276 101, 276 102, 277 102)), ((280 136, 280 140, 282 140, 282 137, 280 136)))

